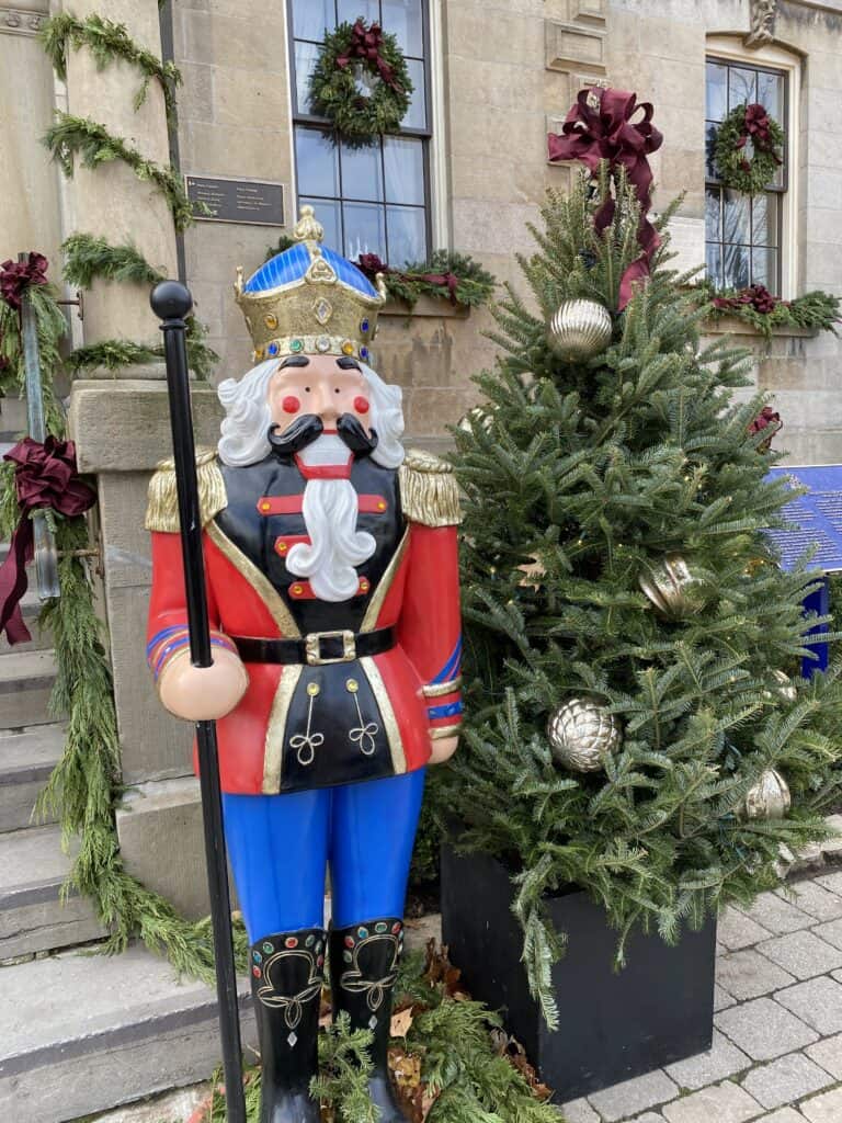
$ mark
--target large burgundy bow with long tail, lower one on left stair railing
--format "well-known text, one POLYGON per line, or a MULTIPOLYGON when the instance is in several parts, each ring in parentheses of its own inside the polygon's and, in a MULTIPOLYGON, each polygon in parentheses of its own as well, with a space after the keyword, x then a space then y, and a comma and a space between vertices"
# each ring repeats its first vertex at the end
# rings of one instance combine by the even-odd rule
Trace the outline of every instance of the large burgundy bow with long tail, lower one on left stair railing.
POLYGON ((20 612, 20 599, 27 588, 26 567, 34 554, 30 512, 51 508, 73 518, 93 506, 97 496, 76 474, 76 450, 71 440, 47 437, 42 445, 25 437, 3 459, 16 465, 20 521, 0 566, 0 636, 4 629, 10 643, 25 643, 31 639, 20 612))

